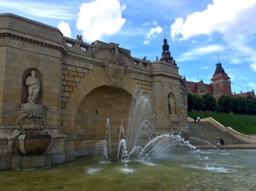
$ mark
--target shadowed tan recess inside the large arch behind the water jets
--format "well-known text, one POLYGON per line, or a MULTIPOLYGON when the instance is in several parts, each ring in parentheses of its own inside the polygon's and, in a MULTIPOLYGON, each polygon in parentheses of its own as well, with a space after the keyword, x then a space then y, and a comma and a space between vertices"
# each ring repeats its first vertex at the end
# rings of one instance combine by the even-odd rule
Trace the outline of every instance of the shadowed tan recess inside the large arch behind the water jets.
POLYGON ((106 137, 106 120, 111 126, 111 142, 118 143, 121 123, 128 125, 131 95, 121 88, 101 86, 88 93, 75 115, 75 149, 94 147, 106 137))

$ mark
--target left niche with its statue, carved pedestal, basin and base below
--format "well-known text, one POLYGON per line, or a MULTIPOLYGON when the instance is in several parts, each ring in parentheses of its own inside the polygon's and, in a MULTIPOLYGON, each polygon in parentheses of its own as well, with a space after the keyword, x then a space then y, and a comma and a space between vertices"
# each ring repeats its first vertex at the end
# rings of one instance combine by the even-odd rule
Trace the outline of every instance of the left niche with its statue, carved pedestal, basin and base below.
POLYGON ((21 107, 18 111, 16 129, 8 137, 8 148, 15 155, 13 169, 36 168, 50 165, 44 155, 52 143, 52 136, 46 127, 42 100, 42 74, 30 68, 23 73, 21 107))

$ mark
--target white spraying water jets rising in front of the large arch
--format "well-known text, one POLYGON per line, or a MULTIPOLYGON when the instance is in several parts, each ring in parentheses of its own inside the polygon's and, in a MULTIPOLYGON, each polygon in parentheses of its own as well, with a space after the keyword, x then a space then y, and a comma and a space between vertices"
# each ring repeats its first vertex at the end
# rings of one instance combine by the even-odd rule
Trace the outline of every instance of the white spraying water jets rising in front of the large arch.
MULTIPOLYGON (((155 130, 155 115, 146 95, 140 88, 136 88, 132 100, 128 120, 128 133, 125 134, 123 123, 120 126, 118 139, 117 159, 164 157, 166 153, 179 150, 194 150, 188 141, 176 133, 173 135, 158 135, 155 130), (121 137, 123 137, 121 139, 121 137)), ((94 156, 104 156, 106 160, 111 158, 111 133, 110 120, 106 121, 106 137, 96 144, 94 156), (107 147, 109 145, 109 147, 107 147), (108 153, 109 148, 109 153, 108 153), (109 157, 108 157, 109 155, 109 157)), ((100 158, 100 157, 94 157, 100 158)))

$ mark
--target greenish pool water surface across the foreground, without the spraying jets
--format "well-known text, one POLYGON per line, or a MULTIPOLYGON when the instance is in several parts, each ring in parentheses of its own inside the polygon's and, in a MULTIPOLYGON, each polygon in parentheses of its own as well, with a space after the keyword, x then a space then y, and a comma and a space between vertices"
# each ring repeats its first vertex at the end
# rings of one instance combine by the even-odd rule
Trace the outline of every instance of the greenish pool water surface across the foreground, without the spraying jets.
POLYGON ((203 150, 150 161, 78 158, 39 170, 0 172, 1 190, 255 190, 256 150, 203 150))

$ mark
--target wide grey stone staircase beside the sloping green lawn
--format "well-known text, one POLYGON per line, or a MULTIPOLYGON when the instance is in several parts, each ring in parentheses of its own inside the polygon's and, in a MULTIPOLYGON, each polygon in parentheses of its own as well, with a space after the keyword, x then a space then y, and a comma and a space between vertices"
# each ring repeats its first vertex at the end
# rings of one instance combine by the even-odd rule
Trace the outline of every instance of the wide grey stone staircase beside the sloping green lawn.
MULTIPOLYGON (((190 136, 189 141, 193 145, 216 145, 216 140, 222 138, 225 145, 242 145, 252 142, 243 138, 243 136, 234 136, 234 130, 221 126, 218 122, 214 123, 213 119, 208 118, 200 122, 189 120, 190 136)), ((238 133, 239 134, 239 133, 238 133)), ((246 136, 246 135, 244 135, 246 136)))

